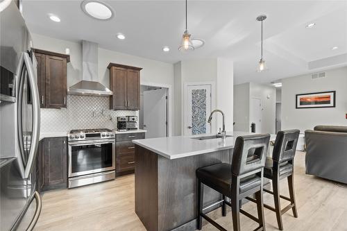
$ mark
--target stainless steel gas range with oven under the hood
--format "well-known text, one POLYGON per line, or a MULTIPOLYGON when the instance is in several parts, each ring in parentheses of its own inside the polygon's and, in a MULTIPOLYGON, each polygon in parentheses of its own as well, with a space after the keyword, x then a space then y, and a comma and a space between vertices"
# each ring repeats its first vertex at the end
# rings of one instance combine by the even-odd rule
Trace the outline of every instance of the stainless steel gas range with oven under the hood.
POLYGON ((115 179, 115 132, 71 130, 67 137, 69 188, 115 179))

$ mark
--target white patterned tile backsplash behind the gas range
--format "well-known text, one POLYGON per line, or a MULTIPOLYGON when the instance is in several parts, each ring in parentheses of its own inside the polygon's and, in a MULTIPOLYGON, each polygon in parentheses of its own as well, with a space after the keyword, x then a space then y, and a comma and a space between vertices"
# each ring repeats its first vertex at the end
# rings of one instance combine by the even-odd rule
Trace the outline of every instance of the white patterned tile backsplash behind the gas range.
POLYGON ((136 111, 109 110, 110 98, 67 96, 67 108, 41 109, 41 132, 68 132, 84 128, 116 128, 117 117, 135 116, 136 111))

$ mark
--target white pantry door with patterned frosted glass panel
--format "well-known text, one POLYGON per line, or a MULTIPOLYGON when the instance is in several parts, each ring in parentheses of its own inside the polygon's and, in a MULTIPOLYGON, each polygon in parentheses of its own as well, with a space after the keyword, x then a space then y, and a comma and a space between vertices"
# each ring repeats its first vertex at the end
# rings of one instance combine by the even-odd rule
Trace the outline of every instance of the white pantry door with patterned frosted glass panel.
POLYGON ((211 85, 187 85, 185 96, 185 135, 210 133, 211 85))

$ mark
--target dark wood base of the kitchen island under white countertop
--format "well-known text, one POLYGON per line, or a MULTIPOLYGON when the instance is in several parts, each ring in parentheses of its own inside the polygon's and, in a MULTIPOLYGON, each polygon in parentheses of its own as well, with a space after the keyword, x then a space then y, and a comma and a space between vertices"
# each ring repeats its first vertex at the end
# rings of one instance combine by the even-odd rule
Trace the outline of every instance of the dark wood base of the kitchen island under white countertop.
MULTIPOLYGON (((232 148, 170 160, 135 144, 135 212, 144 227, 196 230, 196 169, 230 163, 231 153, 232 148)), ((205 186, 204 206, 219 200, 221 194, 205 186)))

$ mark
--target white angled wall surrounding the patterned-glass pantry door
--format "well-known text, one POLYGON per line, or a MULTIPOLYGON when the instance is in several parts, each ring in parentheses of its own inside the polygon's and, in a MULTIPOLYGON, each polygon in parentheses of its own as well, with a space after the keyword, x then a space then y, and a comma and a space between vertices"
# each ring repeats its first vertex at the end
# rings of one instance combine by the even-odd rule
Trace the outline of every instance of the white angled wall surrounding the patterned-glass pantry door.
MULTIPOLYGON (((226 114, 226 130, 232 130, 233 62, 217 58, 184 60, 174 65, 175 80, 175 135, 184 134, 185 85, 212 83, 212 110, 220 108, 226 114)), ((214 117, 212 132, 221 128, 221 115, 214 117)))

